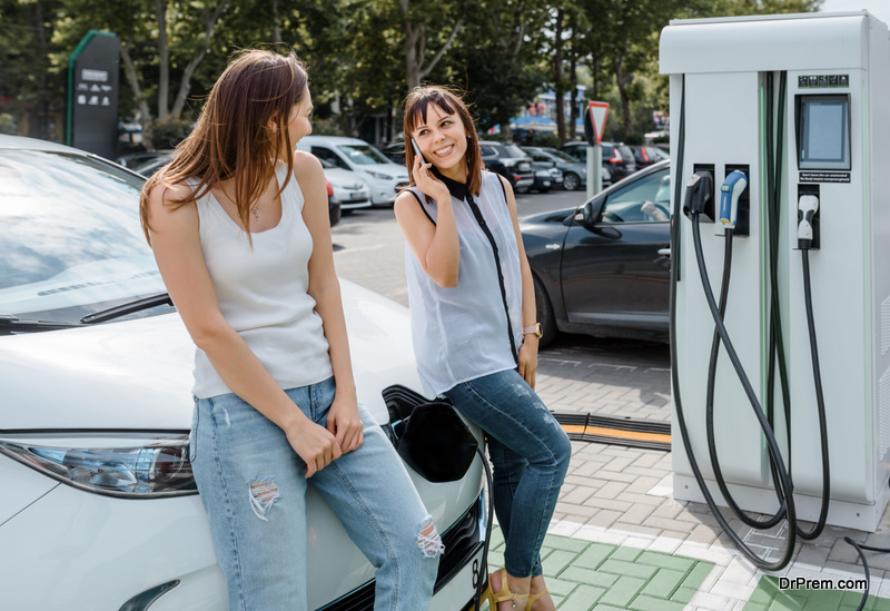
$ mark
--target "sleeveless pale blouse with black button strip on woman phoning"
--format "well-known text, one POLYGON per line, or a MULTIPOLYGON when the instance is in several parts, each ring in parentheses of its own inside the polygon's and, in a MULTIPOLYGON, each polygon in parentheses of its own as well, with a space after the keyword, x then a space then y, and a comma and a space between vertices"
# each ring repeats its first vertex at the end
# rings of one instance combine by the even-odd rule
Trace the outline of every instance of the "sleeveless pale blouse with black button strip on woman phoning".
MULTIPOLYGON (((504 186, 488 171, 482 173, 478 196, 467 195, 465 185, 444 181, 461 243, 457 286, 438 286, 405 246, 417 368, 439 394, 461 382, 515 368, 522 343, 522 274, 504 186)), ((417 187, 411 191, 435 223, 436 203, 427 203, 417 187)))

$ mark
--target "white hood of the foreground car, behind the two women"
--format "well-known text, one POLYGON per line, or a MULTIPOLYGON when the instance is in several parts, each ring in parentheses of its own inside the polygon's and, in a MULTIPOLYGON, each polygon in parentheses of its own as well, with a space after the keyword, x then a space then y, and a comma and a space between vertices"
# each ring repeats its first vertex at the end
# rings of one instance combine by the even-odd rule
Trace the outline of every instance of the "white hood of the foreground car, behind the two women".
MULTIPOLYGON (((398 383, 423 392, 407 309, 342 285, 359 401, 387 422, 383 388, 398 383)), ((0 431, 188 430, 194 356, 175 313, 0 337, 0 431)))

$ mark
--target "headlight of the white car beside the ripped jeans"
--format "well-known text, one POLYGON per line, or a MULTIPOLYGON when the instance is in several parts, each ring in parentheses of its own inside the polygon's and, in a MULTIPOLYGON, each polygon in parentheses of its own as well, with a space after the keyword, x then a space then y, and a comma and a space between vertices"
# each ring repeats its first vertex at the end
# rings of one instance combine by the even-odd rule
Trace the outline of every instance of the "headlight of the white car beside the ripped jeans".
POLYGON ((188 434, 86 433, 59 438, 0 438, 0 453, 65 484, 109 496, 156 499, 196 494, 188 434))

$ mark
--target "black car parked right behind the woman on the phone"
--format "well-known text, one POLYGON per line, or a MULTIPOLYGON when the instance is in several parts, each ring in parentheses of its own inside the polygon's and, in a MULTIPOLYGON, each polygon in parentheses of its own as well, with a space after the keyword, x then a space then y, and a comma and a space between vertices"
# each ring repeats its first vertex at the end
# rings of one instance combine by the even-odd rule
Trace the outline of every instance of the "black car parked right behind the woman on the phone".
POLYGON ((546 345, 556 333, 668 341, 670 161, 520 219, 546 345))

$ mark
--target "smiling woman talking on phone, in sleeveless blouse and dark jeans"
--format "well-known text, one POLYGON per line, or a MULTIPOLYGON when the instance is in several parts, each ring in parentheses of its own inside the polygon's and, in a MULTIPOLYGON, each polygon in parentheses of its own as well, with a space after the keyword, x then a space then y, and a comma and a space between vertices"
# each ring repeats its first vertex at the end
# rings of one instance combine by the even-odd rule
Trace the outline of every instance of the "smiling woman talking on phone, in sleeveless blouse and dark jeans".
POLYGON ((452 91, 412 91, 404 129, 412 187, 395 213, 417 365, 485 431, 494 466, 506 549, 486 595, 493 610, 551 611, 540 552, 572 446, 534 392, 540 327, 513 190, 483 170, 475 126, 452 91))

